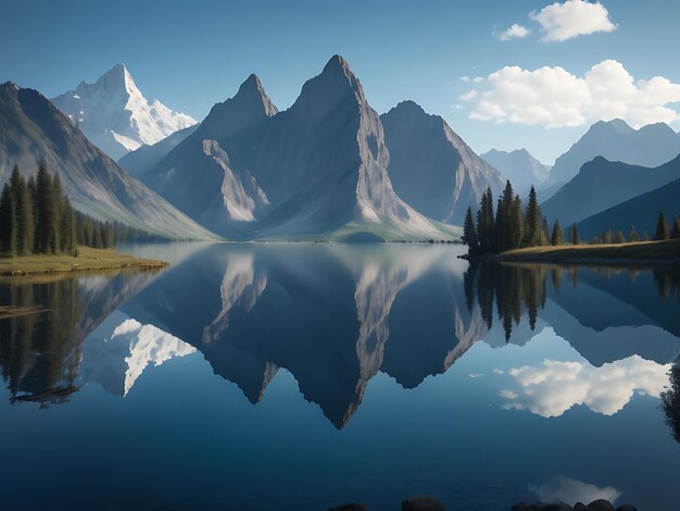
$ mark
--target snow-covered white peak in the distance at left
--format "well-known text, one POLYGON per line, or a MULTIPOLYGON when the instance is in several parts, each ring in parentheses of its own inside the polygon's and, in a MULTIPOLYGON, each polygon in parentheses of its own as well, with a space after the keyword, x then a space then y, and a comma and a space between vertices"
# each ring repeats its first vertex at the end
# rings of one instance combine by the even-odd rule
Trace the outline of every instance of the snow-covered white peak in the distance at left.
POLYGON ((144 98, 123 64, 113 66, 95 84, 83 82, 52 102, 114 160, 196 124, 189 115, 144 98))

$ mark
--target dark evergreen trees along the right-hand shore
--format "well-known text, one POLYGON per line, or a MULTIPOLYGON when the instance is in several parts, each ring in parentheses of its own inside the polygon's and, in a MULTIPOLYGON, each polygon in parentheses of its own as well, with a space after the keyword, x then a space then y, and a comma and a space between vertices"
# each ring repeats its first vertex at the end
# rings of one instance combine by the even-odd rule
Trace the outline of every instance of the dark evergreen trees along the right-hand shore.
MULTIPOLYGON (((665 214, 662 212, 653 239, 665 240, 670 238, 680 238, 680 217, 676 215, 672 226, 669 226, 665 214)), ((593 245, 624 244, 641 240, 650 241, 651 238, 646 230, 640 236, 632 227, 628 239, 621 230, 606 229, 588 242, 593 245)), ((467 209, 463 225, 463 242, 467 245, 470 256, 479 256, 522 247, 561 246, 567 242, 580 245, 581 238, 576 223, 569 227, 568 237, 558 220, 550 229, 547 221, 541 212, 534 187, 532 186, 529 191, 527 207, 522 208, 521 199, 514 192, 513 185, 508 180, 499 198, 495 210, 491 188, 487 188, 487 191, 482 194, 476 219, 471 208, 467 209)))

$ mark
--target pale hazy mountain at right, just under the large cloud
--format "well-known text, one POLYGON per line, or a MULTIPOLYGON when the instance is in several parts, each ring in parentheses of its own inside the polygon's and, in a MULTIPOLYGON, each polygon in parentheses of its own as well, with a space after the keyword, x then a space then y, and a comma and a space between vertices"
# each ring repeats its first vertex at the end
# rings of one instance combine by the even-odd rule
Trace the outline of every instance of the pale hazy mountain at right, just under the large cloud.
POLYGON ((680 137, 667 124, 656 123, 633 129, 620 119, 600 121, 555 160, 546 185, 568 183, 585 162, 595 157, 632 165, 657 166, 679 153, 680 137))

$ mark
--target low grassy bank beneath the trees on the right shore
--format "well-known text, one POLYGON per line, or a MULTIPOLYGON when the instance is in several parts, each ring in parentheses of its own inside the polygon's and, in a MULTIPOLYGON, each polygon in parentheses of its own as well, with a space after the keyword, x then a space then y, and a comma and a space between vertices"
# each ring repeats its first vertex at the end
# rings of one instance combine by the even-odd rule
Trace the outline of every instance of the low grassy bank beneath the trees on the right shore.
POLYGON ((481 260, 514 262, 566 262, 606 264, 673 264, 680 262, 680 239, 607 245, 529 247, 481 260))

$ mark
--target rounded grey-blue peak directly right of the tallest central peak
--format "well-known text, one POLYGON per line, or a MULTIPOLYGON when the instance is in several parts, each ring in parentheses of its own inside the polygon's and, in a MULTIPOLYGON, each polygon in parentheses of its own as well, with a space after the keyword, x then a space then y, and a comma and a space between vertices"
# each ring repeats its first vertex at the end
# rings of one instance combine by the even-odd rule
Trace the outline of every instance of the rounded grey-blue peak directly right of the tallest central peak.
POLYGON ((388 174, 394 191, 424 215, 462 225, 488 186, 503 178, 482 161, 439 115, 403 101, 380 115, 390 151, 388 174))

